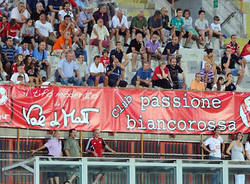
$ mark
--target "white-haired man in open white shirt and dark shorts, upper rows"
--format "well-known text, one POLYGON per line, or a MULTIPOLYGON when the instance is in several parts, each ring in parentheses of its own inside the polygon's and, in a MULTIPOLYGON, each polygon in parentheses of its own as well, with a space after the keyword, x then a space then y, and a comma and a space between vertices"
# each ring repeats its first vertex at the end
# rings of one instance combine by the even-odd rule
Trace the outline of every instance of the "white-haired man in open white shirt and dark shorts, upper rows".
POLYGON ((119 9, 116 15, 112 18, 112 33, 115 34, 116 41, 119 40, 119 35, 125 37, 124 46, 127 47, 129 39, 129 28, 127 17, 123 14, 122 10, 119 9))

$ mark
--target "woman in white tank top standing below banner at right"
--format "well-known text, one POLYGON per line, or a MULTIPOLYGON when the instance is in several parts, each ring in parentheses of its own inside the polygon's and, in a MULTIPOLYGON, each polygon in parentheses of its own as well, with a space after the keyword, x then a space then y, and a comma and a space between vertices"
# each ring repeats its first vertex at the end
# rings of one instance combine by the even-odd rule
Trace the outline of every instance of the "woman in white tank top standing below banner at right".
MULTIPOLYGON (((235 140, 232 141, 227 148, 227 154, 231 155, 231 160, 244 161, 244 146, 242 144, 243 135, 241 132, 236 134, 235 140)), ((235 184, 245 184, 244 174, 235 174, 235 184)))

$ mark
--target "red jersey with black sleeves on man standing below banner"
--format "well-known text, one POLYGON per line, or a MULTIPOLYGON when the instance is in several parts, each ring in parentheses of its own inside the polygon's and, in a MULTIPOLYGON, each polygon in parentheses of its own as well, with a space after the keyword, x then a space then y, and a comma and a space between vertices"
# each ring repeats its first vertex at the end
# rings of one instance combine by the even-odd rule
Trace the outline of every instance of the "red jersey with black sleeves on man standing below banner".
MULTIPOLYGON (((95 151, 98 157, 103 157, 102 152, 103 148, 106 146, 104 140, 99 137, 98 139, 90 138, 86 146, 86 150, 95 151)), ((94 157, 94 154, 90 154, 91 157, 94 157)))

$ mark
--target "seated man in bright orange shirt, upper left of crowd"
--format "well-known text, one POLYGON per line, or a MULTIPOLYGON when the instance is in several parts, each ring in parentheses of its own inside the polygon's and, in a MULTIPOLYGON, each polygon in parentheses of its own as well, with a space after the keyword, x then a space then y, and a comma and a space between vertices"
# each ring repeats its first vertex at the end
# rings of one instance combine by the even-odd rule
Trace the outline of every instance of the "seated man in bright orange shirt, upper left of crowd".
POLYGON ((65 52, 67 49, 71 49, 72 47, 72 39, 70 37, 70 32, 64 32, 64 35, 60 36, 55 44, 53 45, 52 52, 59 51, 65 52))

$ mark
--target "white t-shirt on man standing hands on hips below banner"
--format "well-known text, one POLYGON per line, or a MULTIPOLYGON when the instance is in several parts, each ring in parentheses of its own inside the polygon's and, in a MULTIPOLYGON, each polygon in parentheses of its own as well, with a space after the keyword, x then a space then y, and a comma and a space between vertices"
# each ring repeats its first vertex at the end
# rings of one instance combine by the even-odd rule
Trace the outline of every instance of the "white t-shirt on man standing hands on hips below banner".
POLYGON ((204 144, 207 146, 209 145, 209 149, 215 150, 215 152, 209 153, 209 156, 221 158, 221 144, 223 143, 223 139, 221 136, 218 136, 216 139, 214 136, 209 137, 207 140, 204 141, 204 144))

